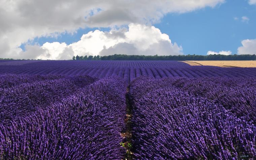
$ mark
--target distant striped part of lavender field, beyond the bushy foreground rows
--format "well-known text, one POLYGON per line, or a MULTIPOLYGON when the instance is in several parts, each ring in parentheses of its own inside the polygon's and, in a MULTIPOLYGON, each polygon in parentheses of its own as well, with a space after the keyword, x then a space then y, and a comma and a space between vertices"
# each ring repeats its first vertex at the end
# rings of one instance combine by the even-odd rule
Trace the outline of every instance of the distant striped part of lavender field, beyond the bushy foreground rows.
POLYGON ((0 73, 119 76, 127 83, 144 75, 163 77, 255 77, 256 68, 190 66, 179 61, 38 61, 0 60, 0 73))

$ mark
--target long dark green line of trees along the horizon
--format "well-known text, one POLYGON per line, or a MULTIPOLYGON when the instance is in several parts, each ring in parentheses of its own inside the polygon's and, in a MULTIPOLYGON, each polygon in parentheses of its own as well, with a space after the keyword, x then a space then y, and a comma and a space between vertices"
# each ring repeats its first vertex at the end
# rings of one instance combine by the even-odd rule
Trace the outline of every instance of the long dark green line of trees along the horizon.
POLYGON ((111 55, 111 56, 74 56, 73 60, 166 60, 166 61, 246 61, 256 60, 256 55, 179 55, 179 56, 143 56, 143 55, 111 55))

